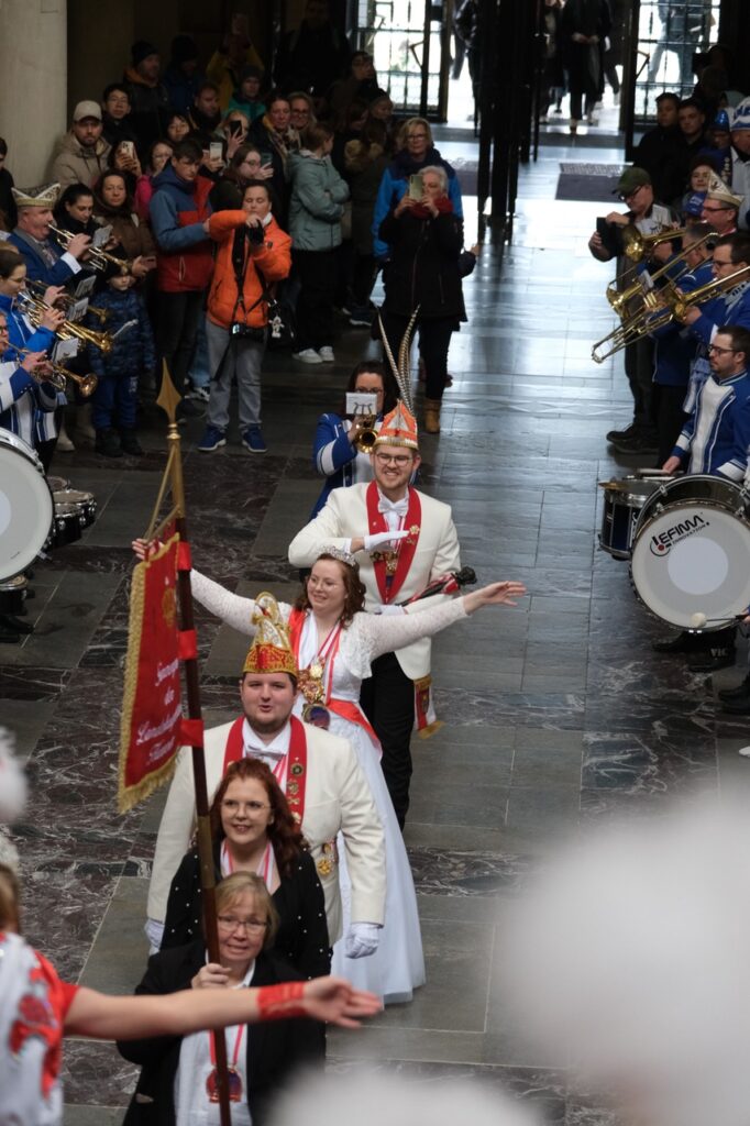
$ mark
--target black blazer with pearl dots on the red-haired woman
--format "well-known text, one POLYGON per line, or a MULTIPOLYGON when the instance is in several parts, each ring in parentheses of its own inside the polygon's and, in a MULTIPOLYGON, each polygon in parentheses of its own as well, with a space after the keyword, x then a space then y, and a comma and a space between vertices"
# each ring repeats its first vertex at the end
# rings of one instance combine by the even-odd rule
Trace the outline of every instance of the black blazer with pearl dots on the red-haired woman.
MULTIPOLYGON (((221 842, 214 843, 214 874, 222 878, 218 856, 221 842)), ((325 920, 325 900, 320 886, 315 861, 310 852, 300 852, 289 876, 285 876, 273 895, 279 915, 275 951, 310 980, 331 972, 331 949, 325 920)), ((197 852, 188 852, 180 864, 169 890, 162 950, 184 946, 202 937, 200 865, 197 852)))

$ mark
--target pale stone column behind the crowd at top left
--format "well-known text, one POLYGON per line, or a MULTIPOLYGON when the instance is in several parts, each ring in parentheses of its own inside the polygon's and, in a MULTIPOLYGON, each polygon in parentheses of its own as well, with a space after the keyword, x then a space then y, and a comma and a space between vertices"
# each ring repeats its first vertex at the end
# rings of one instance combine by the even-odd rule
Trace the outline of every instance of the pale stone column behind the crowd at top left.
POLYGON ((46 178, 66 128, 66 0, 0 0, 0 136, 19 187, 46 178))

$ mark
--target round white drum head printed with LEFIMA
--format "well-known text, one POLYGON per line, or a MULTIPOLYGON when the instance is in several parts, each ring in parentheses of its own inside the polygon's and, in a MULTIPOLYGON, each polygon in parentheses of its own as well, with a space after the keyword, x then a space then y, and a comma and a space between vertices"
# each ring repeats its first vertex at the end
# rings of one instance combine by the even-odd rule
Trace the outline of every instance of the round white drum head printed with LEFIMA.
POLYGON ((642 601, 689 629, 694 614, 714 628, 750 605, 750 526, 724 509, 675 504, 639 529, 631 575, 642 601))

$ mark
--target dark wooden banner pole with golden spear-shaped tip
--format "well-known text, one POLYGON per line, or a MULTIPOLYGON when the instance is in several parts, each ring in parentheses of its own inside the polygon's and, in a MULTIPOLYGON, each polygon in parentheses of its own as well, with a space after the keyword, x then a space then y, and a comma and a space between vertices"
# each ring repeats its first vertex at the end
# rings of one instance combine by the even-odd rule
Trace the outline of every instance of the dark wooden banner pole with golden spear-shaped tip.
MULTIPOLYGON (((161 391, 157 405, 167 414, 169 428, 167 432, 168 462, 167 467, 171 479, 172 504, 177 511, 175 521, 180 537, 177 571, 177 597, 180 608, 180 628, 184 635, 195 637, 195 618, 193 615, 193 592, 190 589, 190 547, 187 531, 185 508, 185 482, 182 479, 182 454, 179 428, 177 426, 177 405, 180 396, 170 378, 167 361, 162 360, 161 391)), ((195 644, 184 656, 185 685, 187 688, 187 712, 190 721, 202 721, 200 682, 198 677, 198 659, 195 644)), ((200 892, 203 900, 203 922, 206 936, 208 957, 221 964, 218 956, 218 929, 216 922, 216 879, 214 875, 214 856, 211 839, 211 822, 208 819, 208 789, 206 785, 206 762, 203 753, 203 739, 199 745, 190 748, 193 753, 193 780, 195 784, 195 808, 198 822, 198 860, 200 864, 200 892)), ((216 1093, 221 1126, 232 1126, 230 1109, 229 1071, 226 1065, 226 1038, 223 1029, 213 1034, 216 1046, 216 1093)))

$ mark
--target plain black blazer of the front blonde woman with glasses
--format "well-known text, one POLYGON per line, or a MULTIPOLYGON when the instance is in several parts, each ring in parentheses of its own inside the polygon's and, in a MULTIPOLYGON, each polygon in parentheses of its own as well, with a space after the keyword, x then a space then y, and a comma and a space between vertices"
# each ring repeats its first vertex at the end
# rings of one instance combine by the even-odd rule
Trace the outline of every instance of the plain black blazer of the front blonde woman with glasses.
MULTIPOLYGON (((149 958, 149 968, 135 992, 163 994, 189 989, 204 963, 203 942, 161 950, 149 958)), ((300 975, 276 955, 258 956, 253 986, 298 980, 300 975)), ((123 1126, 175 1126, 175 1076, 181 1043, 180 1036, 117 1042, 119 1054, 142 1067, 123 1126)), ((300 1066, 323 1066, 323 1026, 302 1019, 248 1025, 245 1044, 250 1115, 253 1126, 264 1126, 271 1099, 288 1083, 292 1073, 300 1066)))

